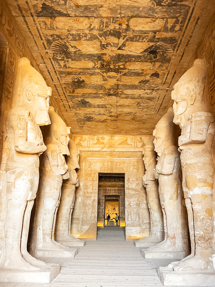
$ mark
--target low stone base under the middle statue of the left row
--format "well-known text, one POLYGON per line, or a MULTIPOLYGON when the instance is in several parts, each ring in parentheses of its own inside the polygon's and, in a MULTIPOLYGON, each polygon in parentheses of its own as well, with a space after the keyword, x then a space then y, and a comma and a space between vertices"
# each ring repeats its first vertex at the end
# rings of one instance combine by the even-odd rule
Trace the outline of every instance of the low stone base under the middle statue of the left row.
POLYGON ((78 254, 77 249, 71 250, 52 250, 52 249, 36 249, 34 257, 75 257, 78 254))

